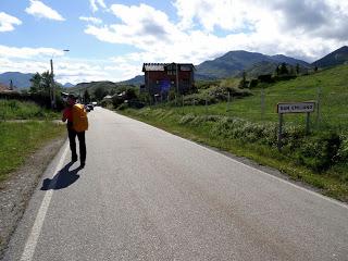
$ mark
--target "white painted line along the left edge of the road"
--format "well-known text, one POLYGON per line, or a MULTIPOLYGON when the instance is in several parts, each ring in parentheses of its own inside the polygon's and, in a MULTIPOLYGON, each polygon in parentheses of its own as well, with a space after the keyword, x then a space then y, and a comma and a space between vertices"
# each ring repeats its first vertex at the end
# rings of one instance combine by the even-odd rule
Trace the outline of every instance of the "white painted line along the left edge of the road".
MULTIPOLYGON (((65 158, 66 158, 66 153, 67 153, 67 146, 65 145, 65 149, 64 149, 64 152, 54 170, 54 175, 62 169, 63 166, 63 163, 65 161, 65 158)), ((54 183, 57 183, 57 179, 54 181, 54 183)), ((54 187, 55 184, 50 184, 50 186, 54 187)), ((41 202, 41 206, 40 206, 40 209, 37 213, 37 216, 35 219, 35 223, 33 225, 33 228, 32 228, 32 233, 25 244, 25 248, 24 248, 24 251, 22 253, 22 258, 21 258, 21 261, 32 261, 33 260, 33 256, 34 256, 34 252, 35 252, 35 248, 36 248, 36 245, 37 245, 37 241, 38 241, 38 238, 39 238, 39 235, 40 235, 40 232, 41 232, 41 228, 42 228, 42 224, 44 224, 44 221, 45 221, 45 216, 46 216, 46 213, 47 213, 47 210, 48 210, 48 207, 50 206, 50 201, 51 201, 51 198, 53 196, 53 189, 50 189, 50 190, 47 190, 46 194, 45 194, 45 197, 42 199, 42 202, 41 202)))

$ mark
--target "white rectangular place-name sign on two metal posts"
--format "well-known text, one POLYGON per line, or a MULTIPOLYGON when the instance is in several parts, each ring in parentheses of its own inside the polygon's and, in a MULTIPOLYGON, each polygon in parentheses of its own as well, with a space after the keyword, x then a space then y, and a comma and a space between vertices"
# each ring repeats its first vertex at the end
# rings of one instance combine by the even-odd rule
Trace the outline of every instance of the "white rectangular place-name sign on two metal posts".
POLYGON ((310 113, 314 112, 315 101, 306 101, 306 102, 289 102, 289 103, 277 103, 277 113, 279 114, 279 126, 278 126, 278 137, 277 137, 277 148, 282 150, 282 136, 283 136, 283 114, 285 113, 307 113, 306 116, 306 135, 309 134, 310 129, 310 113))

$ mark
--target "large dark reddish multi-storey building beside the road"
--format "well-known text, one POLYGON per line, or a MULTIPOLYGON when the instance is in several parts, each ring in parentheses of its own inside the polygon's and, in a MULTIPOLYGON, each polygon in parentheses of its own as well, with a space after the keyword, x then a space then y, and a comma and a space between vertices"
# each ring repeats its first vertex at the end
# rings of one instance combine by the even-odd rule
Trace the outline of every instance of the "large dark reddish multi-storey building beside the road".
POLYGON ((195 66, 191 63, 144 63, 145 85, 140 91, 151 97, 167 97, 172 90, 185 95, 195 85, 195 66))

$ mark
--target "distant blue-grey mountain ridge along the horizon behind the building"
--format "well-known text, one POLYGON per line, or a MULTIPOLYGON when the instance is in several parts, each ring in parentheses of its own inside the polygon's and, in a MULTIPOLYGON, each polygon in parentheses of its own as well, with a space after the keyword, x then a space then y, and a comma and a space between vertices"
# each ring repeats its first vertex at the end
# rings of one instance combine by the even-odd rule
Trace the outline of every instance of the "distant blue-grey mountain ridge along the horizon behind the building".
MULTIPOLYGON (((249 52, 245 50, 228 51, 222 57, 215 58, 213 60, 207 60, 198 65, 196 65, 195 78, 198 80, 206 79, 217 79, 234 77, 246 71, 248 74, 250 72, 251 76, 257 76, 260 72, 269 74, 274 72, 275 67, 279 63, 287 63, 293 66, 299 64, 302 69, 311 69, 314 66, 325 67, 334 66, 343 63, 348 63, 348 47, 344 46, 327 55, 319 59, 313 63, 308 63, 306 61, 287 57, 284 54, 266 55, 259 52, 249 52)), ((12 76, 13 85, 17 88, 28 88, 30 86, 29 79, 34 74, 22 74, 20 72, 7 72, 0 74, 0 83, 4 85, 10 85, 10 79, 12 76), (18 74, 18 78, 14 77, 18 74), (21 75, 20 75, 21 74, 21 75)), ((103 83, 112 83, 110 80, 102 80, 103 83)), ((95 82, 96 83, 96 82, 95 82)), ((83 84, 83 83, 80 83, 83 84)), ((82 87, 80 84, 79 87, 82 87)), ((85 83, 86 84, 86 83, 85 83)), ((139 86, 144 84, 144 75, 136 75, 133 78, 112 83, 111 85, 136 85, 139 86)), ((71 88, 74 85, 66 83, 63 85, 65 88, 71 88)), ((75 85, 76 86, 76 85, 75 85)))

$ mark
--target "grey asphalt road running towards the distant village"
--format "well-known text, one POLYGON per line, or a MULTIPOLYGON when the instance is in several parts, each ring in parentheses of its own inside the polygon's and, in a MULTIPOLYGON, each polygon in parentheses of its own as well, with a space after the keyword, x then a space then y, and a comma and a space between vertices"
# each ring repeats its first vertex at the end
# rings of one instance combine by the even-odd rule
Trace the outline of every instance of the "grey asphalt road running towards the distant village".
POLYGON ((348 260, 346 204, 100 108, 89 121, 86 167, 62 148, 4 260, 348 260))

